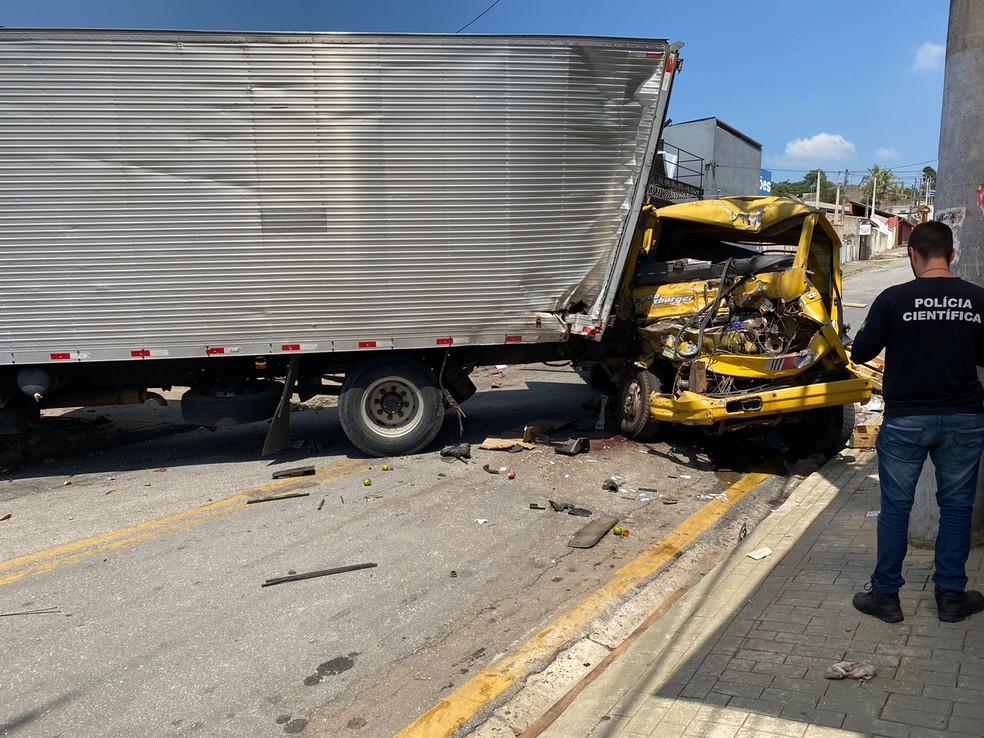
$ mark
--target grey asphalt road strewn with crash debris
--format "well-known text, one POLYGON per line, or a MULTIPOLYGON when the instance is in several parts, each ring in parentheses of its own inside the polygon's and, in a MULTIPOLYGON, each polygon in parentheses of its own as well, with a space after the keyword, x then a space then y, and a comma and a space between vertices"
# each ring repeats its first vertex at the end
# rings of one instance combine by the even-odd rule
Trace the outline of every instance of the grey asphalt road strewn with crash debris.
MULTIPOLYGON (((848 278, 845 298, 870 302, 903 267, 848 278)), ((598 395, 567 368, 485 370, 477 383, 464 435, 449 417, 412 457, 365 459, 327 403, 295 414, 297 447, 273 461, 256 424, 0 476, 0 735, 394 735, 777 450, 756 435, 637 444, 611 420, 596 431, 598 395), (571 421, 554 438, 590 436, 590 453, 477 448, 543 418, 571 421), (436 453, 461 441, 468 464, 436 453), (317 473, 272 479, 304 465, 317 473), (621 489, 603 489, 616 474, 621 489), (247 504, 279 494, 304 496, 247 504), (549 500, 615 515, 630 535, 570 548, 589 519, 549 500), (262 586, 359 564, 375 566, 262 586)), ((726 555, 781 501, 777 472, 659 578, 699 578, 726 555)))

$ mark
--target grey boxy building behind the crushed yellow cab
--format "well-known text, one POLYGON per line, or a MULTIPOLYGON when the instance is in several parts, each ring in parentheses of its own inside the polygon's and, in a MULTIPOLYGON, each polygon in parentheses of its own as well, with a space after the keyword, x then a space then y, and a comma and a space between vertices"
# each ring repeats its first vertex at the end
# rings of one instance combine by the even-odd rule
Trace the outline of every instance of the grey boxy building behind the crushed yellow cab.
POLYGON ((675 178, 699 178, 697 186, 705 198, 762 191, 762 144, 717 118, 673 123, 663 130, 663 142, 664 149, 673 152, 668 157, 680 160, 675 178), (700 161, 703 171, 688 171, 685 161, 700 161))

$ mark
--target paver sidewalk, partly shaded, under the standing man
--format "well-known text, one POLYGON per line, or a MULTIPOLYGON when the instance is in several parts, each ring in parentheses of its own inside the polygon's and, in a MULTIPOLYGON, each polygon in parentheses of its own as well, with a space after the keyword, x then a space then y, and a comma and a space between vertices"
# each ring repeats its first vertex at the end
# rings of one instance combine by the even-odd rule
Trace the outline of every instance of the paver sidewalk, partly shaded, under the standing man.
MULTIPOLYGON (((832 459, 542 735, 984 735, 984 614, 939 622, 932 551, 909 552, 903 623, 851 606, 873 567, 867 513, 877 509, 874 452, 832 459), (747 557, 766 546, 771 556, 747 557), (842 660, 871 663, 877 676, 825 679, 842 660)), ((972 588, 984 588, 982 561, 973 549, 972 588)))

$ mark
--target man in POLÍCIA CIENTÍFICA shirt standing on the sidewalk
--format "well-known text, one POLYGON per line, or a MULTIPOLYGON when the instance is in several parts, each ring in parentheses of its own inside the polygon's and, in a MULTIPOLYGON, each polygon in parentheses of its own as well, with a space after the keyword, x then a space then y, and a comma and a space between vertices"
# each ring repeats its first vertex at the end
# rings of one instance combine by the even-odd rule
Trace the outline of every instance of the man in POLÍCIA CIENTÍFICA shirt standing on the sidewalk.
MULTIPOLYGON (((885 350, 885 418, 878 434, 878 554, 870 591, 854 607, 887 623, 899 604, 909 513, 926 455, 936 467, 940 526, 936 536, 936 605, 955 623, 984 610, 966 590, 971 515, 984 451, 984 289, 950 273, 953 233, 944 223, 916 226, 909 239, 915 279, 889 287, 871 305, 851 349, 864 363, 885 350)), ((869 589, 869 587, 866 587, 869 589)))

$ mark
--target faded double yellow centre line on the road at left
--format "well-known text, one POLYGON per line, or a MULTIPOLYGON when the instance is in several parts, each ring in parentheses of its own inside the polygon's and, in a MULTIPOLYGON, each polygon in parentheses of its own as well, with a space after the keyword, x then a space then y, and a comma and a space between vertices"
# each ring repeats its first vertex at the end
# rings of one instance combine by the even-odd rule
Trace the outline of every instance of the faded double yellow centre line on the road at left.
POLYGON ((258 494, 266 494, 290 487, 301 487, 311 480, 319 484, 327 484, 337 479, 342 479, 343 477, 356 473, 358 468, 364 466, 365 463, 361 459, 345 461, 341 464, 319 469, 313 476, 288 477, 287 479, 281 479, 261 487, 255 487, 247 492, 240 492, 231 497, 209 502, 188 510, 182 510, 171 515, 165 515, 155 520, 148 520, 127 528, 109 531, 98 536, 82 538, 77 541, 71 541, 70 543, 64 543, 60 546, 53 546, 43 551, 27 554, 26 556, 20 556, 16 559, 2 561, 0 562, 0 572, 10 573, 0 576, 0 586, 10 584, 18 579, 23 579, 34 574, 51 571, 59 566, 75 563, 90 556, 105 553, 106 551, 147 541, 164 533, 190 528, 199 523, 204 523, 206 520, 211 520, 218 515, 234 512, 239 509, 233 507, 236 503, 245 505, 246 500, 258 494))

